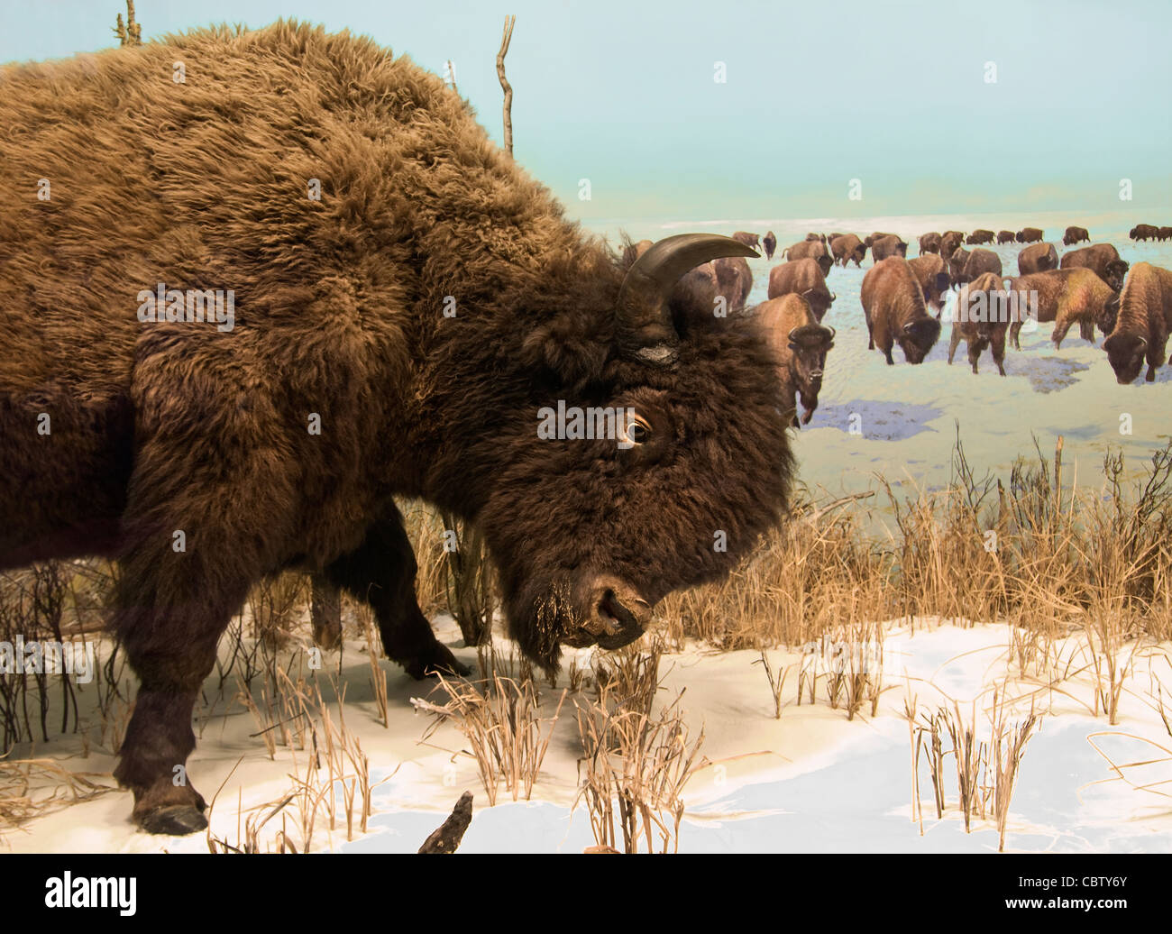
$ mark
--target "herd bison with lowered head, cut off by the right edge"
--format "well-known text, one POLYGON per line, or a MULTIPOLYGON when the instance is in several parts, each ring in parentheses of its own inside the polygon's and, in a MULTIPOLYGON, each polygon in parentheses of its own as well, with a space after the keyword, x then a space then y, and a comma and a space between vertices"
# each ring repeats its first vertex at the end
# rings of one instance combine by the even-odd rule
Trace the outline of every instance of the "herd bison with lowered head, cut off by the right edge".
POLYGON ((1127 274, 1119 295, 1115 328, 1103 341, 1115 379, 1134 382, 1147 361, 1147 382, 1163 367, 1172 333, 1172 272, 1150 263, 1137 263, 1127 274))

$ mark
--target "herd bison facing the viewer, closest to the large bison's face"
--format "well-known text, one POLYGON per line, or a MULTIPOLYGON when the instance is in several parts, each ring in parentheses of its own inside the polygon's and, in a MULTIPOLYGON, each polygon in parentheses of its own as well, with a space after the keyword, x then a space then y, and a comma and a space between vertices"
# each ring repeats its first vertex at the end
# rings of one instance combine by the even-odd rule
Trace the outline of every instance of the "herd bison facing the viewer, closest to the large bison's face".
POLYGON ((800 295, 788 294, 757 306, 757 321, 769 336, 782 381, 782 411, 793 413, 793 427, 810 424, 818 408, 818 390, 826 368, 826 354, 834 346, 834 329, 823 327, 810 304, 800 295), (800 400, 800 422, 797 402, 800 400))

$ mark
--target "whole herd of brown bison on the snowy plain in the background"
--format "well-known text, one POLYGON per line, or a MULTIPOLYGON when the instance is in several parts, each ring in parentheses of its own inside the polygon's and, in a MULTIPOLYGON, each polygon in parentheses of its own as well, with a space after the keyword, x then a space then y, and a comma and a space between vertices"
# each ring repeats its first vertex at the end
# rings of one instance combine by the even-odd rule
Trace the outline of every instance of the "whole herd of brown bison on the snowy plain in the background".
MULTIPOLYGON (((1165 239, 1167 227, 1140 224, 1132 239, 1165 239)), ((765 250, 772 259, 777 237, 737 231, 732 239, 765 250)), ((1090 241, 1085 227, 1065 229, 1065 247, 1090 241)), ((1022 325, 1030 318, 1054 322, 1051 340, 1061 348, 1075 325, 1079 336, 1095 342, 1095 328, 1106 335, 1103 349, 1120 383, 1134 380, 1147 362, 1146 380, 1164 364, 1172 332, 1172 273, 1147 263, 1130 267, 1108 243, 1067 250, 1059 255, 1041 227, 1020 231, 932 231, 918 238, 919 255, 907 259, 908 244, 895 233, 809 233, 781 250, 783 263, 769 272, 766 301, 752 313, 771 335, 785 398, 793 407, 791 424, 808 424, 818 405, 826 353, 834 329, 824 326, 837 300, 826 285, 832 267, 861 267, 867 251, 873 265, 863 278, 860 301, 867 323, 868 349, 879 349, 894 364, 898 345, 908 363, 921 363, 940 338, 941 316, 950 294, 955 314, 948 362, 963 342, 977 371, 989 350, 1004 376, 1006 348, 1021 349, 1022 325), (982 245, 1021 244, 1016 274, 1001 257, 982 245), (970 248, 966 248, 970 247, 970 248), (798 403, 802 414, 798 415, 798 403)), ((649 240, 631 247, 640 255, 649 240)), ((676 287, 690 301, 715 302, 725 309, 743 306, 752 274, 743 258, 717 259, 689 273, 676 287)), ((1167 361, 1172 364, 1172 360, 1167 361)))

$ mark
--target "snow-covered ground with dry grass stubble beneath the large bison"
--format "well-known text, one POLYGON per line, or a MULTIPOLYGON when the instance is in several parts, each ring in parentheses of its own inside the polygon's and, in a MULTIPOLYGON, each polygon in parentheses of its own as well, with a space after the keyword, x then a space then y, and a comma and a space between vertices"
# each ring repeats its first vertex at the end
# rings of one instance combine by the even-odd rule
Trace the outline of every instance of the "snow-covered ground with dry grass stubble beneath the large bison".
MULTIPOLYGON (((475 653, 457 648, 458 630, 450 619, 436 621, 441 638, 465 662, 475 653)), ((1071 635, 1051 652, 1061 662, 1062 680, 1023 677, 1010 652, 1013 633, 1003 625, 962 628, 917 620, 914 629, 898 622, 886 629, 883 693, 878 713, 870 704, 847 720, 832 709, 824 683, 816 703, 796 703, 799 652, 771 652, 775 669, 790 668, 781 718, 774 717, 769 683, 754 652, 714 652, 699 645, 665 654, 659 703, 687 689, 681 707, 690 735, 701 728, 707 759, 684 788, 687 812, 679 836, 681 852, 993 852, 997 830, 993 820, 975 821, 966 833, 958 809, 953 758, 945 759, 947 810, 936 819, 932 782, 920 763, 922 833, 912 813, 912 744, 905 709, 912 698, 920 711, 959 704, 973 716, 977 738, 988 738, 988 705, 996 686, 1009 697, 1004 720, 1013 725, 1030 709, 1041 715, 1040 729, 1026 748, 1010 804, 1006 848, 1061 852, 1167 852, 1172 850, 1172 737, 1161 720, 1160 698, 1170 703, 1172 662, 1167 645, 1127 643, 1120 659, 1131 660, 1124 682, 1118 723, 1095 709, 1095 677, 1085 638, 1071 635), (1076 674, 1077 673, 1077 674, 1076 674), (1161 687, 1163 686, 1163 687, 1161 687), (1016 700, 1015 700, 1016 698, 1016 700), (1101 735, 1102 734, 1102 735, 1101 735), (1097 751, 1098 746, 1102 752, 1097 751), (1151 764, 1124 769, 1120 778, 1110 764, 1151 764), (1160 784, 1163 783, 1163 784, 1160 784)), ((585 663, 588 652, 578 653, 585 663)), ((571 656, 572 657, 572 656, 571 656)), ((570 657, 567 657, 567 664, 570 657)), ((325 657, 325 670, 336 670, 338 655, 325 657)), ((593 845, 584 804, 573 809, 579 788, 581 744, 573 697, 566 701, 531 802, 513 803, 500 788, 489 807, 476 763, 461 755, 463 737, 444 723, 421 744, 432 717, 416 713, 411 697, 427 696, 430 684, 408 679, 383 662, 388 674, 389 727, 380 718, 370 688, 369 660, 361 643, 347 643, 342 657, 347 686, 345 722, 369 758, 374 813, 366 834, 347 841, 346 821, 328 831, 319 816, 315 850, 342 852, 414 852, 450 812, 465 789, 473 792, 473 818, 461 852, 581 852, 593 845)), ((322 682, 323 694, 333 696, 322 682)), ((565 684, 552 690, 543 682, 546 715, 565 684)), ((83 694, 83 697, 86 695, 83 694)), ((593 696, 586 688, 580 698, 593 696)), ((432 701, 442 697, 432 695, 432 701)), ((264 805, 282 800, 291 775, 305 775, 307 754, 278 746, 270 759, 258 725, 240 704, 225 714, 226 703, 197 710, 198 746, 189 772, 211 799, 213 836, 236 843, 248 813, 264 816, 264 805), (240 816, 244 810, 245 817, 240 816)), ((336 703, 329 704, 338 723, 336 703)), ((1172 710, 1165 711, 1172 716, 1172 710)), ((946 737, 946 749, 948 748, 946 737)), ((114 758, 90 744, 66 737, 39 746, 75 771, 109 772, 114 758)), ((23 754, 23 752, 22 752, 23 754)), ((107 780, 109 780, 107 778, 107 780)), ((0 837, 0 850, 15 852, 206 852, 204 834, 157 838, 136 832, 129 821, 130 796, 115 791, 94 800, 52 811, 20 831, 0 837)), ((297 804, 284 818, 295 821, 297 804)), ((281 814, 260 834, 272 840, 281 814)))

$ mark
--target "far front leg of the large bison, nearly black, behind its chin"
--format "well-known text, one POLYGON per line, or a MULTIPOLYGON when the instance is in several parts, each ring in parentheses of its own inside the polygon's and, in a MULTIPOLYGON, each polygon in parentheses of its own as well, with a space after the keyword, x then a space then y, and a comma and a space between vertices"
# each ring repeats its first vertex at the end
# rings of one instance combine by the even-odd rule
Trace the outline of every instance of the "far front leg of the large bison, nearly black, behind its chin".
POLYGON ((326 568, 326 575, 375 613, 387 657, 398 662, 411 677, 422 680, 436 671, 466 675, 447 646, 435 638, 431 623, 415 599, 415 552, 403 529, 398 510, 373 525, 356 551, 326 568))

